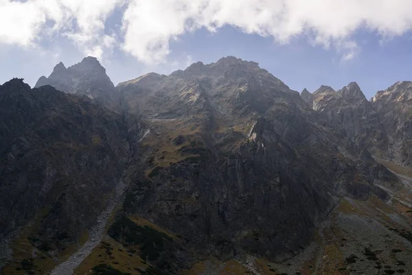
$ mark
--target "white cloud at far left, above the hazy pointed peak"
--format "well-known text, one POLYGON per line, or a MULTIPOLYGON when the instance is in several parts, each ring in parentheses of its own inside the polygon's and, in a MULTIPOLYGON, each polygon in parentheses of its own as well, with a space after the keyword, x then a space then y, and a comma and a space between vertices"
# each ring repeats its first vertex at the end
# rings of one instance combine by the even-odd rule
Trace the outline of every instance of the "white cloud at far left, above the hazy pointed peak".
POLYGON ((33 47, 53 34, 67 36, 85 54, 115 45, 104 34, 107 17, 123 0, 0 0, 0 43, 33 47))

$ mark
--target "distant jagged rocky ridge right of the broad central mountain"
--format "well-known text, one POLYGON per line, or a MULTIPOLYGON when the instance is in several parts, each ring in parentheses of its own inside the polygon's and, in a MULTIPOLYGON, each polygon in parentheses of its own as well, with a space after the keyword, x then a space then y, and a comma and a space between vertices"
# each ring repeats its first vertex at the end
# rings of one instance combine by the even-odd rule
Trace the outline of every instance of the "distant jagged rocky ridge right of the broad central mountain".
POLYGON ((368 101, 356 83, 339 91, 321 86, 313 94, 301 97, 328 122, 341 129, 343 141, 370 153, 411 165, 411 96, 412 83, 399 82, 385 91, 378 91, 368 101), (310 98, 313 104, 310 104, 310 98))

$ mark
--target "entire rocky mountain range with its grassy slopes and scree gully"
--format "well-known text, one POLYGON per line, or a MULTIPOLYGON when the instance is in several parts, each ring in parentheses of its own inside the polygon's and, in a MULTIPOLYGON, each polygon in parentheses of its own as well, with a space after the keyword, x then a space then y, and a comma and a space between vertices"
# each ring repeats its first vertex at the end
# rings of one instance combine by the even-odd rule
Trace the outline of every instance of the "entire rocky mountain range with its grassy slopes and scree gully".
POLYGON ((14 78, 1 274, 409 274, 411 103, 411 82, 299 93, 233 56, 14 78))

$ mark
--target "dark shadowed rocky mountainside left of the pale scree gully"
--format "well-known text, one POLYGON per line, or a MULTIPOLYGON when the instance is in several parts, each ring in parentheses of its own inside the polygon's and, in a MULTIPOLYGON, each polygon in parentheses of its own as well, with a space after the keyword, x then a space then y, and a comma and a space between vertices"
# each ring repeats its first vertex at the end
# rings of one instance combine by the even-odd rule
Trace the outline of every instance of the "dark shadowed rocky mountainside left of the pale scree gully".
POLYGON ((19 79, 0 87, 0 105, 0 235, 41 212, 35 245, 62 251, 122 179, 127 128, 86 96, 19 79))

